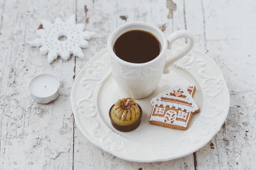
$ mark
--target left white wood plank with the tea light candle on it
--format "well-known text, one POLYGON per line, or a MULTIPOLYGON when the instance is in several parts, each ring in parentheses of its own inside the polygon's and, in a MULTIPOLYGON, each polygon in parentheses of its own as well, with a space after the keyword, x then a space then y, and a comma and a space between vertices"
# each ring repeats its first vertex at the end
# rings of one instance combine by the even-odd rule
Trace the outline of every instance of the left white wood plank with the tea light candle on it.
POLYGON ((0 95, 0 169, 51 170, 73 167, 70 91, 74 57, 69 61, 58 59, 49 65, 47 58, 39 54, 39 48, 23 45, 36 38, 35 30, 41 18, 54 21, 55 17, 65 19, 74 13, 74 0, 8 0, 5 3, 0 42, 1 54, 5 54, 6 59, 0 95), (58 100, 41 105, 26 99, 10 86, 12 44, 15 47, 17 70, 29 56, 26 67, 15 83, 28 92, 33 77, 43 73, 52 74, 61 82, 58 100))

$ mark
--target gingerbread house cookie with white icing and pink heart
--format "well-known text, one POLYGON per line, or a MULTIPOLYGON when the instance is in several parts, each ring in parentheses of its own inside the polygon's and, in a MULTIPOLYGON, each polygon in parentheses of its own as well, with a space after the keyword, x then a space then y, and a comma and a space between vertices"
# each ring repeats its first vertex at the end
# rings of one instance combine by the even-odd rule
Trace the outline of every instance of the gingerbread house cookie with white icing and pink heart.
POLYGON ((189 85, 187 89, 175 87, 158 94, 151 100, 153 110, 149 123, 169 127, 172 129, 186 130, 194 113, 200 111, 195 100, 195 85, 189 85))

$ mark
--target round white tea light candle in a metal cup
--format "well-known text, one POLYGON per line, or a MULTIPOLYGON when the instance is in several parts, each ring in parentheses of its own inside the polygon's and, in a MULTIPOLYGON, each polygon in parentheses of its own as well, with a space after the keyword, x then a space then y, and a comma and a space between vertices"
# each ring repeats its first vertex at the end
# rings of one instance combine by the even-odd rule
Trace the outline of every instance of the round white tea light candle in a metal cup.
POLYGON ((60 83, 50 74, 41 74, 29 83, 29 91, 36 102, 47 104, 58 99, 60 83))

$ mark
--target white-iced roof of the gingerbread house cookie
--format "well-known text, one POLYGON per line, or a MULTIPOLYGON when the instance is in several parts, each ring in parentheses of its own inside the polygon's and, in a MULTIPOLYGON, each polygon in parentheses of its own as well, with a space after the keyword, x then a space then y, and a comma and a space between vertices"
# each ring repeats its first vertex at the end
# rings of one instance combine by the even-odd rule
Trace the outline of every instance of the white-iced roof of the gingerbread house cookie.
MULTIPOLYGON (((189 87, 194 87, 194 86, 195 85, 189 85, 189 87)), ((199 109, 198 105, 195 103, 195 100, 192 98, 192 95, 189 94, 187 89, 182 88, 182 87, 178 87, 178 86, 175 87, 173 90, 169 89, 167 91, 164 91, 163 93, 158 94, 156 97, 151 99, 151 104, 152 104, 152 106, 163 105, 163 107, 166 107, 168 105, 170 108, 175 107, 175 109, 180 108, 181 111, 186 110, 187 113, 189 113, 190 111, 195 112, 199 109), (186 96, 186 98, 171 96, 170 94, 174 94, 175 91, 181 92, 181 95, 186 96), (166 100, 162 101, 162 98, 174 99, 174 100, 186 102, 189 105, 183 104, 183 103, 176 103, 176 102, 172 102, 172 101, 166 101, 166 100)))

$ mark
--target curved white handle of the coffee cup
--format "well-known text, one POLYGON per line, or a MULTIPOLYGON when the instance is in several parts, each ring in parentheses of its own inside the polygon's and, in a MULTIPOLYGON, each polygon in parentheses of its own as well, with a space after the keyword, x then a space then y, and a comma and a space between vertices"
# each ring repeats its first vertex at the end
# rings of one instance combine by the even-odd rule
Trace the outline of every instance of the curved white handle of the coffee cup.
POLYGON ((171 50, 172 49, 172 43, 180 38, 188 38, 189 41, 188 43, 181 48, 179 51, 177 51, 177 53, 175 53, 170 59, 168 59, 166 61, 166 64, 164 66, 164 70, 163 70, 163 74, 168 74, 169 71, 169 67, 175 63, 177 60, 179 60, 180 58, 184 57, 186 54, 189 53, 189 51, 192 50, 192 48, 195 45, 195 37, 192 33, 190 33, 187 30, 179 30, 179 31, 175 31, 174 33, 172 33, 168 38, 168 49, 171 50))

